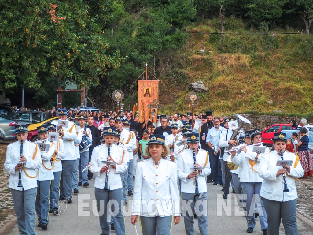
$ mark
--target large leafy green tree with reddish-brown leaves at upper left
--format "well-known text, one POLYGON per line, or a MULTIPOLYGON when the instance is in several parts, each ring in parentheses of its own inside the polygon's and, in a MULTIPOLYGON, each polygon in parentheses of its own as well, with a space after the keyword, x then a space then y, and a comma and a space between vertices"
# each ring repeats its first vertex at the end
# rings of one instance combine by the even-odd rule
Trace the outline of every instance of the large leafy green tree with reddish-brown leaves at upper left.
POLYGON ((0 3, 0 89, 39 89, 45 78, 61 85, 97 86, 121 62, 85 1, 4 0, 0 3))

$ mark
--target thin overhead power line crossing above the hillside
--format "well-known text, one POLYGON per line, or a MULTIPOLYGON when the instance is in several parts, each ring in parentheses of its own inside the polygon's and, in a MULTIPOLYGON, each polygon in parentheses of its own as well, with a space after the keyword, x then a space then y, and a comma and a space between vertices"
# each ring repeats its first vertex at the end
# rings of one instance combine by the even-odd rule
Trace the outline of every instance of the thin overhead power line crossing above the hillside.
MULTIPOLYGON (((297 33, 217 33, 217 32, 198 32, 198 31, 177 31, 177 30, 166 30, 166 29, 150 29, 150 28, 141 28, 141 27, 133 27, 133 26, 123 26, 118 24, 106 24, 112 27, 119 27, 119 28, 128 28, 128 29, 144 29, 150 31, 162 31, 162 32, 174 32, 174 33, 183 33, 183 34, 223 34, 223 35, 268 35, 268 34, 308 34, 305 32, 297 32, 297 33)), ((311 32, 309 33, 311 34, 311 32)))

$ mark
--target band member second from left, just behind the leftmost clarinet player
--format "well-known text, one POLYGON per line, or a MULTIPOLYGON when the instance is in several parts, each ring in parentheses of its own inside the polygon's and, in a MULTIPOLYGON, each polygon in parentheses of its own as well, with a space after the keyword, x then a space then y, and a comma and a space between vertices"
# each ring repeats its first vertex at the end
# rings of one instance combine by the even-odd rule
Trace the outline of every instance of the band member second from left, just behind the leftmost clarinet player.
POLYGON ((39 168, 39 174, 37 175, 37 196, 36 196, 36 213, 38 217, 38 227, 42 229, 47 229, 49 223, 49 208, 50 208, 50 184, 51 180, 54 180, 54 175, 52 169, 54 165, 51 165, 51 158, 56 150, 56 145, 52 142, 47 141, 49 137, 47 125, 42 125, 37 127, 37 132, 40 137, 39 142, 42 144, 48 144, 49 149, 44 150, 40 147, 40 155, 42 159, 42 166, 39 168), (42 141, 44 140, 44 141, 42 141))

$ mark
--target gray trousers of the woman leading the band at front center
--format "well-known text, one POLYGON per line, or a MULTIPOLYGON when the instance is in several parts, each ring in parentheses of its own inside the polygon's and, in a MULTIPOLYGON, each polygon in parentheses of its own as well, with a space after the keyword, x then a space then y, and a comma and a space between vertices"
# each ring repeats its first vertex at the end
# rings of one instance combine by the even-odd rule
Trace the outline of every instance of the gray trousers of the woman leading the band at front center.
POLYGON ((142 235, 169 235, 171 233, 173 216, 140 216, 142 235))

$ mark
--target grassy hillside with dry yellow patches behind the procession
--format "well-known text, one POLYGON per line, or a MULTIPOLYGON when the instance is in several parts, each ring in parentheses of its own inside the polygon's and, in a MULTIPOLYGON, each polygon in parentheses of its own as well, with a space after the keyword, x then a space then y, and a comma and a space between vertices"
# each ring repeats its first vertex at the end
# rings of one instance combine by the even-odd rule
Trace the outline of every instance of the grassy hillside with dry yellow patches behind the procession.
MULTIPOLYGON (((245 30, 241 20, 227 18, 225 32, 256 33, 245 30), (228 30, 232 29, 232 30, 228 30)), ((187 30, 218 32, 219 20, 208 20, 187 30)), ((261 31, 260 31, 261 30, 261 31)), ((264 29, 265 30, 265 29, 264 29)), ((290 29, 273 29, 279 33, 290 29)), ((295 31, 292 31, 295 32, 295 31)), ((313 36, 191 34, 174 52, 177 66, 161 78, 160 103, 163 112, 186 112, 188 83, 203 81, 196 110, 213 109, 215 114, 271 113, 307 116, 313 113, 313 36), (199 53, 203 49, 206 51, 199 53), (268 101, 272 100, 273 104, 268 101)))

